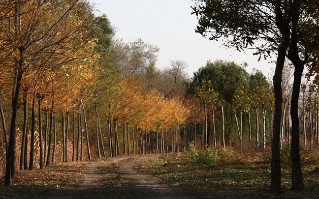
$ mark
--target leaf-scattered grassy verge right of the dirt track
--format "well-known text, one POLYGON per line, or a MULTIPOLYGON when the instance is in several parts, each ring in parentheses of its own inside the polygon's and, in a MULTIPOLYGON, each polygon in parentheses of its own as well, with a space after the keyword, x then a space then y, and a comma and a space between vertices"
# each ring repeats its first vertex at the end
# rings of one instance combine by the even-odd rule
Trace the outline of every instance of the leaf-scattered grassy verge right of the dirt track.
POLYGON ((282 190, 272 195, 270 152, 238 152, 233 149, 199 151, 192 146, 185 153, 154 157, 138 167, 139 172, 155 175, 166 184, 192 193, 216 198, 317 198, 319 183, 318 151, 301 151, 305 190, 290 191, 289 154, 282 151, 282 190), (163 166, 165 162, 168 162, 163 166), (213 193, 213 194, 212 194, 213 193))

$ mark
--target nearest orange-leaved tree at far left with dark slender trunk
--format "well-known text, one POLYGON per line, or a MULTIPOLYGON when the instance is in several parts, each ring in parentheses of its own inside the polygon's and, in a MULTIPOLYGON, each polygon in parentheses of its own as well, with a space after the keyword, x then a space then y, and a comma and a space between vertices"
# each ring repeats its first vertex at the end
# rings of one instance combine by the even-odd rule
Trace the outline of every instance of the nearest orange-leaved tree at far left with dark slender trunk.
POLYGON ((10 20, 1 21, 2 25, 11 29, 2 32, 2 40, 8 41, 14 38, 16 41, 11 42, 10 46, 15 52, 12 56, 12 71, 15 75, 12 81, 12 117, 6 163, 6 185, 11 184, 11 179, 15 174, 16 118, 24 75, 27 74, 27 71, 33 71, 30 70, 33 67, 38 67, 40 70, 48 68, 56 70, 65 63, 76 59, 70 56, 71 51, 76 52, 75 49, 81 47, 81 42, 88 38, 89 33, 87 29, 86 32, 83 31, 84 26, 87 27, 88 24, 89 7, 85 5, 85 1, 79 0, 55 1, 54 3, 21 1, 15 4, 15 12, 7 13, 8 18, 11 17, 11 21, 14 21, 14 25, 6 25, 10 20), (14 20, 16 17, 19 19, 14 20), (50 59, 44 56, 48 54, 50 54, 50 59))

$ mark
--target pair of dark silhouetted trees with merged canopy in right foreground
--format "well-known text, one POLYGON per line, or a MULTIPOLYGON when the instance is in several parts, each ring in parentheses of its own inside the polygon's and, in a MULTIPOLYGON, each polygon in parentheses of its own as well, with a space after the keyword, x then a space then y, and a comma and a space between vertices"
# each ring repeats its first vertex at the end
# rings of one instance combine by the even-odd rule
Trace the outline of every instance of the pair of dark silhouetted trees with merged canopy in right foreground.
POLYGON ((276 49, 274 75, 275 110, 272 139, 271 189, 281 192, 280 120, 282 103, 282 69, 285 56, 295 66, 295 80, 291 104, 292 136, 292 189, 303 189, 299 155, 298 96, 303 66, 317 41, 317 1, 196 1, 193 14, 199 18, 196 32, 211 40, 221 39, 223 45, 241 51, 257 49, 259 59, 266 59, 276 49), (308 20, 310 19, 310 20, 308 20), (307 30, 307 31, 306 31, 307 30), (312 30, 312 31, 309 31, 312 30), (312 41, 312 42, 309 42, 312 41), (313 42, 315 41, 315 42, 313 42), (300 48, 299 48, 300 47, 300 48), (300 51, 301 50, 301 51, 300 51), (300 53, 300 54, 299 54, 300 53), (302 54, 304 61, 300 59, 302 54), (298 146, 297 146, 298 145, 298 146))

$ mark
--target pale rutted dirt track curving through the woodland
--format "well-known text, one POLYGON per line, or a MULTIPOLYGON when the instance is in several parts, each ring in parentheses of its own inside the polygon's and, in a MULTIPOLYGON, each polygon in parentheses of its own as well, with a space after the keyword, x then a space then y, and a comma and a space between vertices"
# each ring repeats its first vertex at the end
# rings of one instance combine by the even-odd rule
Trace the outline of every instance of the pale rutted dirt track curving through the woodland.
POLYGON ((133 168, 135 165, 149 160, 151 157, 141 156, 135 158, 117 157, 108 158, 106 161, 94 162, 85 165, 82 169, 83 182, 74 190, 57 189, 49 198, 152 198, 152 199, 177 199, 177 198, 210 198, 208 196, 189 195, 180 189, 173 189, 163 184, 161 180, 150 175, 138 174, 133 168), (122 162, 121 162, 122 161, 122 162), (116 172, 130 182, 129 186, 104 186, 105 173, 101 171, 103 165, 113 165, 120 162, 116 172))

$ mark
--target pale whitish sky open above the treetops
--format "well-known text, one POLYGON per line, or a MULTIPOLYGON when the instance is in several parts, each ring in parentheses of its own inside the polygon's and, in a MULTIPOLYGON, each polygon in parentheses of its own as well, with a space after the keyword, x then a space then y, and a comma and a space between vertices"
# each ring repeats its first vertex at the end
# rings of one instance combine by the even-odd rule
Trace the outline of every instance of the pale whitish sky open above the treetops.
POLYGON ((123 42, 141 38, 159 48, 156 67, 168 68, 170 61, 184 61, 189 77, 205 66, 207 61, 224 60, 237 64, 246 62, 246 71, 261 70, 272 77, 275 68, 272 60, 261 60, 252 55, 254 50, 238 52, 227 49, 222 43, 205 39, 195 33, 198 20, 190 14, 191 0, 90 0, 96 16, 106 14, 116 29, 115 37, 123 42))

